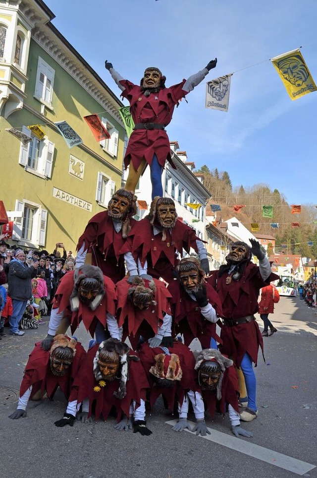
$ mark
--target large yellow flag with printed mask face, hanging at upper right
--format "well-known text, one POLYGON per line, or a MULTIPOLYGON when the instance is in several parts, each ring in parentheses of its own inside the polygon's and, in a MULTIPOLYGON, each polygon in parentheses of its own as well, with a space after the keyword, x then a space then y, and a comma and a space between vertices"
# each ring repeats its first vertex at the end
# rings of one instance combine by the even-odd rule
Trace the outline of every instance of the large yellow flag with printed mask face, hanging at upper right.
POLYGON ((271 58, 271 61, 292 100, 317 90, 299 49, 271 58))

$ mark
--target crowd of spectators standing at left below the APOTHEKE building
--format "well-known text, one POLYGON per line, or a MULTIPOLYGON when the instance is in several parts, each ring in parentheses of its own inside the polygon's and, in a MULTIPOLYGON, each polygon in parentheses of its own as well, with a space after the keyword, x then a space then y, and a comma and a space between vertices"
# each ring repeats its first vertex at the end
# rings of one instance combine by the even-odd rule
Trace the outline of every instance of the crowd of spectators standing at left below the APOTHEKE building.
POLYGON ((9 245, 0 236, 0 340, 4 326, 10 335, 23 336, 21 329, 45 323, 61 278, 74 267, 75 257, 62 242, 50 254, 9 245))

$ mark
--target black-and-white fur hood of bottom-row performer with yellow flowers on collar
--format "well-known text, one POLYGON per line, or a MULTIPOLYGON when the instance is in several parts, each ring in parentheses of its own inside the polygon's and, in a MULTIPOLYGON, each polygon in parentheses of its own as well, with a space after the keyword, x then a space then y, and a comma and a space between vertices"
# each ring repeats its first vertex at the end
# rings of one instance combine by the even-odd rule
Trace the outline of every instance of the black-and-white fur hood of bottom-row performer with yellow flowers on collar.
MULTIPOLYGON (((119 356, 121 365, 120 385, 118 391, 114 392, 114 395, 119 400, 122 400, 127 393, 126 382, 128 380, 128 358, 130 349, 127 344, 120 342, 118 339, 107 339, 101 342, 94 358, 94 375, 96 380, 102 380, 103 378, 98 365, 99 356, 102 349, 105 349, 107 352, 116 352, 119 356)), ((137 357, 133 358, 133 360, 135 359, 138 360, 137 357)))

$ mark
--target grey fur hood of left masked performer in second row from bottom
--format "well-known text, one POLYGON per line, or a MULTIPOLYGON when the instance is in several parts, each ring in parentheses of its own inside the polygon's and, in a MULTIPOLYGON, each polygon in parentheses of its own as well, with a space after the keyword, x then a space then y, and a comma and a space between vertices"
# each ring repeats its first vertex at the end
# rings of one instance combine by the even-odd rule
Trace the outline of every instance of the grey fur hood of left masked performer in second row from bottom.
POLYGON ((95 297, 95 299, 89 304, 89 307, 92 310, 96 310, 98 305, 101 304, 101 301, 105 295, 105 284, 104 284, 104 275, 102 270, 97 266, 92 266, 90 264, 84 264, 75 270, 74 274, 74 288, 71 293, 69 303, 72 312, 79 309, 79 297, 78 297, 78 288, 83 279, 90 277, 96 279, 100 284, 100 293, 95 297))

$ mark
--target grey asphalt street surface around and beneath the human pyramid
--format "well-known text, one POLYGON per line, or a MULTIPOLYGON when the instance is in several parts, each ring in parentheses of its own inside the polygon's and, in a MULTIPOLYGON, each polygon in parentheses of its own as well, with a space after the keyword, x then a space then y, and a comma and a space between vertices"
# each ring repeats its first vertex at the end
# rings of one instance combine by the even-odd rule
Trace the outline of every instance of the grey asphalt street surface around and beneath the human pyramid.
MULTIPOLYGON (((46 335, 49 317, 21 338, 7 335, 0 341, 0 475, 317 478, 317 315, 299 298, 282 297, 269 318, 278 332, 264 338, 266 363, 259 356, 259 417, 243 423, 254 433, 249 439, 235 438, 228 417, 220 416, 211 421, 207 415, 208 439, 174 432, 167 422, 175 417, 160 401, 147 417, 151 436, 118 432, 112 417, 106 423, 57 428, 53 422, 66 407, 59 393, 53 402, 30 402, 26 418, 10 420, 28 354, 46 335)), ((260 316, 258 320, 262 329, 260 316)), ((83 326, 76 336, 87 349, 83 326)))

